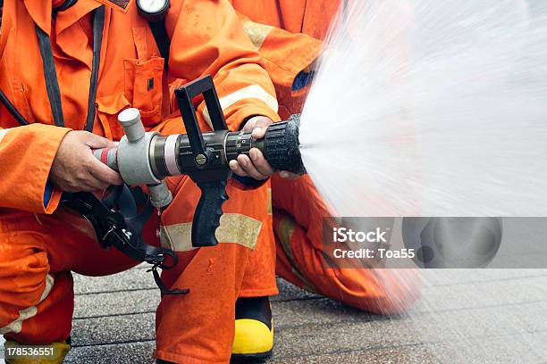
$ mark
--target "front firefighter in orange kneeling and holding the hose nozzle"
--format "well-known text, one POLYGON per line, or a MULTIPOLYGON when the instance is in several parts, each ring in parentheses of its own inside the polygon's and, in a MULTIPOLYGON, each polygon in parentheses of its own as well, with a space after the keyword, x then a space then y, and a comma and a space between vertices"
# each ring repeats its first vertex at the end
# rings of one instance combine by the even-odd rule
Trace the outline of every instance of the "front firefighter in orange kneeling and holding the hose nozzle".
MULTIPOLYGON (((123 110, 138 109, 147 131, 186 132, 170 103, 170 79, 185 84, 212 75, 230 130, 252 132, 259 139, 272 120, 279 120, 265 65, 228 1, 156 3, 162 5, 147 8, 152 3, 130 0, 2 4, 0 333, 7 347, 55 347, 56 357, 44 362, 63 362, 70 349, 71 271, 102 276, 130 269, 138 261, 105 251, 97 239, 106 245, 134 243, 140 230, 148 243, 158 245, 157 236, 162 236, 168 245, 136 250, 143 260, 157 259, 155 268, 171 268, 161 278, 156 274, 163 293, 156 311, 158 361, 229 361, 238 335, 236 312, 247 323, 240 330, 267 327, 264 356, 272 347, 269 303, 261 297, 277 294, 266 180, 273 168, 260 151, 252 149, 230 161, 236 175, 225 186, 230 199, 223 203, 219 244, 212 248, 192 246, 191 224, 202 194, 189 176, 167 178, 173 202, 159 216, 148 211, 146 224, 134 215, 123 225, 120 215, 104 210, 117 203, 123 211, 128 203, 122 200, 131 196, 127 187, 117 188, 124 193, 115 202, 109 201, 110 194, 101 203, 89 194, 88 200, 67 198, 122 185, 120 175, 97 161, 91 150, 108 150, 112 140, 122 138, 117 117, 123 110), (160 30, 171 42, 164 57, 164 45, 156 42, 158 30, 148 23, 160 14, 160 30), (88 209, 95 228, 65 204, 88 209), (101 231, 108 222, 110 228, 101 231), (167 255, 171 264, 164 261, 167 255)), ((211 130, 212 119, 200 103, 199 128, 211 130)), ((139 197, 131 201, 135 211, 139 197)))

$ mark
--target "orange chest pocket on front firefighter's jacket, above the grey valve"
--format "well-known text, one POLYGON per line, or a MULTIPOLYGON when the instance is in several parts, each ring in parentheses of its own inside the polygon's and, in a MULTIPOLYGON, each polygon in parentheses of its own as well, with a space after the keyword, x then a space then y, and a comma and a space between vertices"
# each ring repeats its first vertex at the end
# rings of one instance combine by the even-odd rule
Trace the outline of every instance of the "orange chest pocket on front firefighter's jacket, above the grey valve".
POLYGON ((147 127, 162 120, 164 58, 152 57, 145 62, 123 60, 124 94, 132 107, 140 110, 147 127))

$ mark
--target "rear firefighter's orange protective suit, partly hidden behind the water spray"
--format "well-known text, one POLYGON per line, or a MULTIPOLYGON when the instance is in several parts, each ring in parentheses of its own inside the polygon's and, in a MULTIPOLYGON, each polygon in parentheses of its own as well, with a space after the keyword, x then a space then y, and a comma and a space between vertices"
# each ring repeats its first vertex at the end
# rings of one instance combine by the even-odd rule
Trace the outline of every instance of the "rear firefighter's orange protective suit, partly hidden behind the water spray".
MULTIPOLYGON (((308 88, 291 87, 300 71, 309 69, 323 49, 322 40, 345 0, 231 0, 243 28, 265 58, 276 87, 280 115, 302 111, 308 88)), ((343 9, 341 8, 341 11, 343 9)), ((272 178, 276 272, 309 291, 324 294, 362 310, 394 313, 418 298, 416 270, 341 269, 325 267, 323 222, 328 207, 307 177, 272 178)))

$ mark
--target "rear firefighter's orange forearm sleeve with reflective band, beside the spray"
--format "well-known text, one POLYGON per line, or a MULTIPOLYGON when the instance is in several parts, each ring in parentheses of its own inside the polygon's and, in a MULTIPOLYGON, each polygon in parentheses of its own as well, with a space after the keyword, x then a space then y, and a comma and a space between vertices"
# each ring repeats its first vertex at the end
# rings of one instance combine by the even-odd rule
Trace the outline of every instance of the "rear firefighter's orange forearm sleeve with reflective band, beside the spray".
POLYGON ((306 70, 323 50, 323 42, 304 33, 250 21, 238 13, 240 22, 259 54, 265 60, 273 83, 292 87, 297 75, 306 70))

